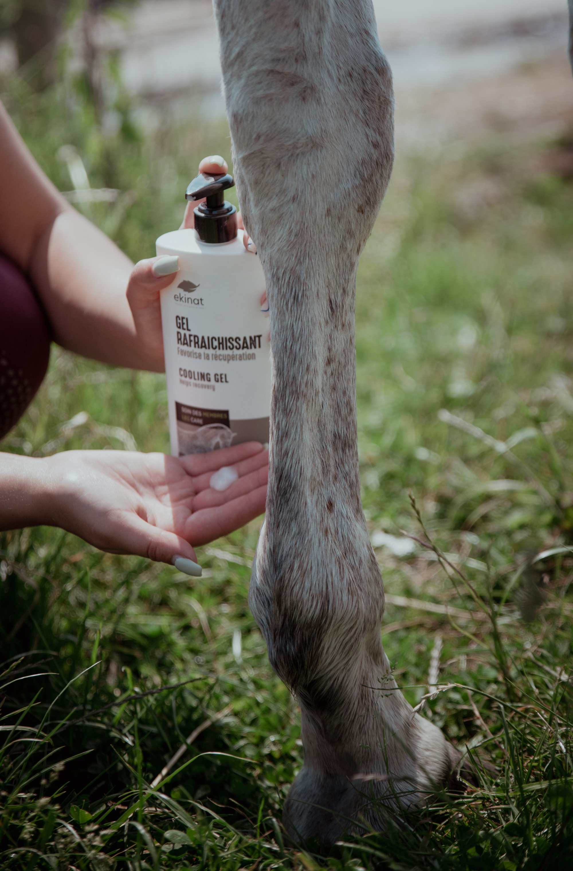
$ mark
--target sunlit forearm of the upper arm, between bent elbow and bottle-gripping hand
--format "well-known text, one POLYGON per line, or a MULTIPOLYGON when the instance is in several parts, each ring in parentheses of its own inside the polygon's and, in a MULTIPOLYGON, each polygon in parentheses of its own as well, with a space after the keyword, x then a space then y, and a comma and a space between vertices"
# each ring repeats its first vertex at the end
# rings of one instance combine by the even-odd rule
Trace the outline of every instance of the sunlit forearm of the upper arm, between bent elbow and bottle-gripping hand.
POLYGON ((131 260, 73 209, 46 227, 29 273, 58 344, 113 366, 163 370, 163 354, 142 347, 125 288, 131 260))

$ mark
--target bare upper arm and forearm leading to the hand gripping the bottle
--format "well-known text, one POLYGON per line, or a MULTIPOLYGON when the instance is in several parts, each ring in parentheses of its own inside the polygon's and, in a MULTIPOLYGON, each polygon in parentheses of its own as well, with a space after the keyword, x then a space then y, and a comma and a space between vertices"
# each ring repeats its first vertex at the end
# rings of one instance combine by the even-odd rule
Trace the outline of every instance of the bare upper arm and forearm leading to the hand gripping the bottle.
POLYGON ((161 370, 160 341, 138 340, 126 299, 131 260, 65 201, 1 105, 0 191, 0 251, 30 277, 54 339, 116 366, 161 370))

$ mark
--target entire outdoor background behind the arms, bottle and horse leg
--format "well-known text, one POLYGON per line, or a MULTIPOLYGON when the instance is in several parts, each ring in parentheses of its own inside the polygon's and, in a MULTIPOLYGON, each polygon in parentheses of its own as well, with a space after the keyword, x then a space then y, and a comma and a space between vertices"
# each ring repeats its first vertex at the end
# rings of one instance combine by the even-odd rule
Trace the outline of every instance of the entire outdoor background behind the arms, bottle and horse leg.
MULTIPOLYGON (((394 72, 396 161, 357 282, 362 503, 394 677, 473 754, 479 782, 460 813, 368 838, 370 853, 354 839, 347 858, 325 867, 381 868, 375 847, 392 868, 442 868, 447 857, 464 871, 569 869, 566 0, 374 0, 374 10, 394 72), (424 700, 437 685, 455 689, 424 700)), ((179 226, 199 159, 230 161, 219 74, 207 0, 0 0, 0 97, 44 172, 133 260, 179 226)), ((164 376, 53 348, 43 387, 0 449, 71 448, 168 451, 164 376)), ((156 868, 323 868, 285 852, 277 822, 301 744, 295 702, 246 605, 259 527, 199 549, 204 574, 192 585, 170 567, 102 554, 58 530, 0 535, 2 658, 46 656, 27 722, 37 724, 50 699, 60 699, 55 711, 92 712, 77 728, 57 726, 58 765, 91 755, 85 769, 54 767, 50 786, 33 773, 44 772, 41 741, 36 756, 22 751, 19 768, 0 756, 11 820, 0 833, 3 868, 34 867, 13 858, 23 841, 70 867, 87 868, 94 855, 100 864, 90 868, 115 868, 104 858, 124 849, 131 867, 150 867, 133 859, 139 830, 118 840, 136 794, 138 825, 152 833, 150 852, 160 850, 156 868), (192 687, 159 693, 190 675, 192 687), (142 704, 137 692, 158 695, 142 704), (189 733, 206 755, 164 800, 145 784, 189 733), (98 816, 101 807, 111 810, 98 816), (54 829, 57 814, 68 834, 54 829), (121 829, 106 828, 109 814, 121 829)), ((10 685, 10 710, 30 705, 31 686, 10 685)))

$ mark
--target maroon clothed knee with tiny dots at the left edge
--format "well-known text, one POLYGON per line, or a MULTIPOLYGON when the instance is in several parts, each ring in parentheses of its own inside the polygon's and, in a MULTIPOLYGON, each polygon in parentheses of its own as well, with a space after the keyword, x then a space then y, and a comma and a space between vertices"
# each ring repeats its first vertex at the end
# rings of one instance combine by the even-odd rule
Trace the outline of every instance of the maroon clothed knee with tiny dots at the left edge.
POLYGON ((50 333, 24 273, 0 254, 0 439, 22 417, 50 359, 50 333))

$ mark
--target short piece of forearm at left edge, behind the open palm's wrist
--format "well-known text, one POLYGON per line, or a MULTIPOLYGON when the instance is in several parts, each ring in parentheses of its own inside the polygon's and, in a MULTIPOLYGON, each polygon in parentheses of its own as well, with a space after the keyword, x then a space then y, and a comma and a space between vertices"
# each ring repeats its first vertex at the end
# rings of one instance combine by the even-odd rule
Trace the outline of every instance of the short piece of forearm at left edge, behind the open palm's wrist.
POLYGON ((49 457, 0 454, 0 530, 51 523, 55 499, 49 457))

